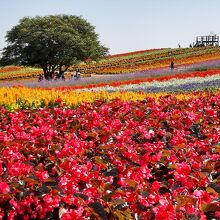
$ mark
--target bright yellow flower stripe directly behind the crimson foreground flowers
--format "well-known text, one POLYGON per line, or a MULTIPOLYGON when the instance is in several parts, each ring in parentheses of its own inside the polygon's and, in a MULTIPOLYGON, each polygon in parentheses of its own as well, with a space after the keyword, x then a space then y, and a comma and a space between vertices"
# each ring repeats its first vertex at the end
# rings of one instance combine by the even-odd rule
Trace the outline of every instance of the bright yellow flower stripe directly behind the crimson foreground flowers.
MULTIPOLYGON (((162 95, 168 95, 169 93, 157 93, 146 94, 144 92, 113 92, 107 91, 90 92, 90 91, 59 91, 59 90, 45 90, 45 89, 30 89, 25 87, 14 88, 0 88, 0 105, 4 105, 7 109, 19 109, 19 108, 40 108, 54 106, 57 104, 57 100, 62 100, 67 106, 76 106, 83 102, 93 103, 96 100, 112 100, 121 99, 125 101, 129 100, 143 100, 146 95, 158 98, 162 95)), ((198 93, 206 96, 206 93, 198 93)), ((178 99, 188 99, 197 96, 197 93, 180 93, 176 94, 178 99)))

